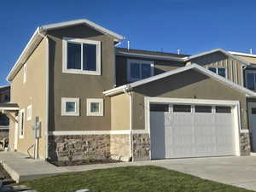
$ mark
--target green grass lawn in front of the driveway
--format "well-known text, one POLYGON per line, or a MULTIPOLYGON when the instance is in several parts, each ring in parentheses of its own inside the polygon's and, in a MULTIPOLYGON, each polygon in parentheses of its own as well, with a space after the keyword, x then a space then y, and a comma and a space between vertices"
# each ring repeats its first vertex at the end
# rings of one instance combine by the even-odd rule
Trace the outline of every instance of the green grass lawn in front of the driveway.
POLYGON ((158 166, 128 166, 44 177, 24 183, 38 192, 248 191, 158 166))

